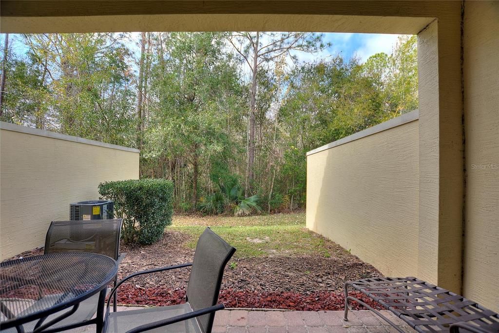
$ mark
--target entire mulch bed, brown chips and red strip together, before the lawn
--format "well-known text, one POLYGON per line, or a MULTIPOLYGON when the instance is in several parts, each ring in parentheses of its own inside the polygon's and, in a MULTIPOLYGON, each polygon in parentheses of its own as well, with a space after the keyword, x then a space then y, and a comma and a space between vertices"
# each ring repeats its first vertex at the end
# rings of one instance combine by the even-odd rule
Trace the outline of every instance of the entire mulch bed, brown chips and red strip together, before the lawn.
MULTIPOLYGON (((168 230, 162 240, 150 246, 122 245, 121 252, 126 256, 118 278, 140 270, 192 262, 194 250, 185 247, 187 241, 188 235, 168 230)), ((43 254, 43 249, 11 259, 39 254, 43 254)), ((231 263, 233 268, 226 268, 220 294, 220 301, 228 308, 343 310, 345 281, 381 276, 371 265, 344 253, 330 258, 320 254, 235 258, 231 263)), ((120 288, 118 302, 156 306, 182 303, 189 272, 178 269, 134 278, 120 288)), ((375 305, 362 295, 355 295, 375 305)))

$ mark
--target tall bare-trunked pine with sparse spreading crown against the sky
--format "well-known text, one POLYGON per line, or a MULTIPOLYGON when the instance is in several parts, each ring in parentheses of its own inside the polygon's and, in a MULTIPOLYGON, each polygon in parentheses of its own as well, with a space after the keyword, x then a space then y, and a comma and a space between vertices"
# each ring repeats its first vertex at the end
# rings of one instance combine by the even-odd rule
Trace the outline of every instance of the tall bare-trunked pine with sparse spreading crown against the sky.
POLYGON ((259 66, 276 61, 283 55, 288 55, 295 60, 296 55, 292 51, 316 52, 325 45, 322 43, 322 34, 311 32, 243 31, 230 32, 226 34, 226 38, 251 70, 248 163, 245 182, 245 192, 248 194, 253 180, 256 85, 259 66))

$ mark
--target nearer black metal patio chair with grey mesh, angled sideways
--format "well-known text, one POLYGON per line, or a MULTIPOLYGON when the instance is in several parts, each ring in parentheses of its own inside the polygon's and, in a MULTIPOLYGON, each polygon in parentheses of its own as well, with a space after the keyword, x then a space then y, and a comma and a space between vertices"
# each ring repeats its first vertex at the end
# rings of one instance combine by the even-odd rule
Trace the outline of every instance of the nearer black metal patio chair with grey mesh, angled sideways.
POLYGON ((111 294, 114 294, 120 285, 133 277, 192 266, 187 285, 186 303, 110 313, 109 299, 104 332, 211 333, 215 312, 224 309, 223 304, 217 305, 220 286, 224 269, 235 251, 235 248, 227 244, 210 228, 206 228, 198 240, 192 264, 141 271, 121 280, 111 294))

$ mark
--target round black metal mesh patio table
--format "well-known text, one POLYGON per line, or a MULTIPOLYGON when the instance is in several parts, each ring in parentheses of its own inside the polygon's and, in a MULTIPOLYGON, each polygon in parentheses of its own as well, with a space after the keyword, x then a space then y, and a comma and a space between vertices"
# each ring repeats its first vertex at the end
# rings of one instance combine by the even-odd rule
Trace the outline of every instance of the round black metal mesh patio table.
MULTIPOLYGON (((61 331, 52 326, 70 318, 82 301, 100 292, 102 310, 95 321, 85 323, 99 329, 106 287, 117 271, 115 260, 94 253, 57 253, 1 263, 1 331, 61 331)), ((77 322, 70 325, 77 326, 77 322)))

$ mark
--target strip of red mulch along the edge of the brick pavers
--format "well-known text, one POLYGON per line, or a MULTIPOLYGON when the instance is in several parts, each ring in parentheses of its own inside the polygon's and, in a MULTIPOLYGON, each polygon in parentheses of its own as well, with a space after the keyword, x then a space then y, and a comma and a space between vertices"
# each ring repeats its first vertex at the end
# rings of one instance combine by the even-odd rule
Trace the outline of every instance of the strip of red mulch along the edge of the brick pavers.
MULTIPOLYGON (((131 284, 124 284, 118 291, 118 303, 169 306, 184 303, 185 295, 185 290, 164 287, 137 288, 131 284)), ((349 295, 375 309, 382 310, 379 304, 360 292, 350 292, 349 295)), ((223 303, 226 308, 338 311, 344 309, 345 298, 343 293, 332 292, 316 292, 306 295, 293 292, 252 292, 225 289, 220 292, 219 303, 223 303)), ((352 307, 355 310, 364 309, 357 303, 352 303, 352 307)))

